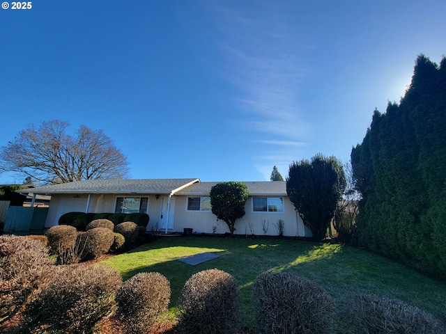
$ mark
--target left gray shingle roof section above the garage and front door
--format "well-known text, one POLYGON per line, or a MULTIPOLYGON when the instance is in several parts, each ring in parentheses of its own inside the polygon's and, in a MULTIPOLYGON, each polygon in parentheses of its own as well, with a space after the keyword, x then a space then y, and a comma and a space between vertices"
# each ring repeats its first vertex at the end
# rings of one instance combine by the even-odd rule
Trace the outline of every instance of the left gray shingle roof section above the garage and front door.
POLYGON ((21 191, 22 193, 171 193, 199 179, 85 180, 21 191))

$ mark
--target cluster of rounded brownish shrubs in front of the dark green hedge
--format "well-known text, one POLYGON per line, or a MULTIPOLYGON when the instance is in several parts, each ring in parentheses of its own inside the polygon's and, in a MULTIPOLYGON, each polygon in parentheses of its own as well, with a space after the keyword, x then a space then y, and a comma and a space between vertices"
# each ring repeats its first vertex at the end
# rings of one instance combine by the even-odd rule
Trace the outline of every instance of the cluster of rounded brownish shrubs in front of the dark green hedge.
POLYGON ((86 232, 78 232, 70 225, 56 225, 49 228, 45 235, 49 250, 59 256, 59 262, 73 264, 95 259, 109 251, 130 248, 137 240, 139 231, 138 225, 131 221, 114 226, 107 219, 98 219, 87 225, 86 232))

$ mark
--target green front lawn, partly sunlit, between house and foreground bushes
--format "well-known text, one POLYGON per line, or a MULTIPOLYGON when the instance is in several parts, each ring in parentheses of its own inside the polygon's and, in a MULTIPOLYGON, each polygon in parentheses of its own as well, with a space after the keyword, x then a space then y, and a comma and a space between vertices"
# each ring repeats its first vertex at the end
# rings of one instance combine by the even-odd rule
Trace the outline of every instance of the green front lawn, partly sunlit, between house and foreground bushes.
MULTIPOLYGON (((252 284, 268 271, 291 271, 321 284, 334 297, 342 331, 343 310, 351 295, 372 293, 401 299, 436 317, 446 310, 446 284, 432 280, 383 257, 337 244, 315 244, 291 239, 240 239, 226 237, 164 237, 101 262, 118 269, 127 280, 142 271, 157 271, 171 284, 173 311, 180 289, 190 276, 205 269, 231 273, 240 287, 243 323, 254 328, 252 284), (180 257, 203 252, 221 255, 190 266, 180 257)), ((173 314, 173 312, 171 312, 173 314)))

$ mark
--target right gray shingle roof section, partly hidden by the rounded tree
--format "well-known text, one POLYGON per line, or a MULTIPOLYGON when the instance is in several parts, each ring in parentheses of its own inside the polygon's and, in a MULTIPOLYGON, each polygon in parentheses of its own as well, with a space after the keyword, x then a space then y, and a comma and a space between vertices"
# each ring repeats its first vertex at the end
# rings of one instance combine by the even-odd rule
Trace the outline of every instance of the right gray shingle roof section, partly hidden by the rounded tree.
MULTIPOLYGON (((209 196, 210 188, 219 182, 199 182, 175 193, 178 196, 209 196)), ((286 196, 285 181, 242 182, 248 186, 250 196, 286 196)))

